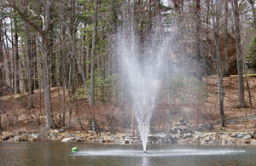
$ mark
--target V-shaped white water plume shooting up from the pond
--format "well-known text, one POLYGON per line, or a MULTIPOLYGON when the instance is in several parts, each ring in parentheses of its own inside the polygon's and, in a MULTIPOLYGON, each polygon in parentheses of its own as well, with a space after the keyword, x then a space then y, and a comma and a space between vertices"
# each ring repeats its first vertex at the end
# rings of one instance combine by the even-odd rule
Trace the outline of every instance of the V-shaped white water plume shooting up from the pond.
POLYGON ((164 68, 162 59, 167 47, 165 47, 165 40, 159 40, 160 36, 152 33, 154 35, 151 35, 151 40, 144 45, 142 51, 138 47, 132 21, 131 14, 131 26, 120 28, 116 45, 123 81, 133 103, 143 141, 143 152, 146 152, 150 118, 160 87, 158 77, 164 68), (156 40, 157 37, 158 40, 156 40))

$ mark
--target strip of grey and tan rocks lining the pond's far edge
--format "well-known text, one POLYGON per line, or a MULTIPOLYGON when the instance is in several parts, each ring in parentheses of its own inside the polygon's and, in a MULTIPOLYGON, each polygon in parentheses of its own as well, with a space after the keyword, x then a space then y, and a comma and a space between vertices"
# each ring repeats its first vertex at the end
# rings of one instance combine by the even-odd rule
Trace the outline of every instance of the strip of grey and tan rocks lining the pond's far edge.
MULTIPOLYGON (((61 142, 88 142, 88 143, 108 143, 108 144, 141 144, 139 136, 132 136, 131 133, 119 133, 112 135, 103 132, 96 133, 67 132, 65 129, 49 130, 44 133, 9 133, 0 135, 1 141, 61 141, 61 142)), ((252 145, 256 146, 255 131, 223 131, 223 132, 194 132, 183 134, 156 133, 148 135, 148 144, 172 145, 252 145)))

